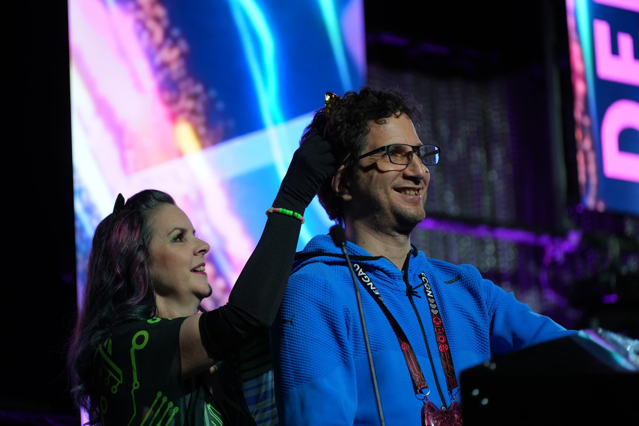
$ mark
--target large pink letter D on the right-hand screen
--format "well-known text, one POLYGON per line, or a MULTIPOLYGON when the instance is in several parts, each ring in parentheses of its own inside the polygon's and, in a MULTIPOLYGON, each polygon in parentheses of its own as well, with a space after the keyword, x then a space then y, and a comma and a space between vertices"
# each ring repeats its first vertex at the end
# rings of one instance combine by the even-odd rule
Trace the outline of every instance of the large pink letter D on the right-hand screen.
POLYGON ((639 182, 639 155, 619 151, 619 133, 639 132, 639 103, 620 99, 608 107, 601 121, 601 161, 607 178, 639 182))

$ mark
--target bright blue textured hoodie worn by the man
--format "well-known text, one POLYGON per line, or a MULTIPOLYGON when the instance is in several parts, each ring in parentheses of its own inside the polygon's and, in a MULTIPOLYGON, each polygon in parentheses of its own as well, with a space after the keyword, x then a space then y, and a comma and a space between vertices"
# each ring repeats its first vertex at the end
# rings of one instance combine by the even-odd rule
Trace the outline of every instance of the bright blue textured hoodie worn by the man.
MULTIPOLYGON (((438 407, 449 406, 450 398, 428 300, 423 285, 415 293, 421 297, 412 296, 426 333, 427 349, 415 309, 406 295, 405 279, 417 287, 422 284, 420 273, 426 273, 442 315, 458 381, 462 370, 491 356, 576 333, 535 314, 468 264, 427 259, 423 252, 413 249, 408 254, 408 270, 400 271, 389 259, 371 256, 353 243, 347 243, 346 249, 351 262, 366 271, 406 333, 431 390, 428 398, 438 407)), ((420 424, 423 402, 415 397, 397 337, 371 295, 361 284, 358 287, 385 422, 389 426, 420 424)), ((341 249, 335 247, 330 236, 312 238, 296 257, 271 329, 271 346, 282 424, 379 423, 353 280, 341 249)))

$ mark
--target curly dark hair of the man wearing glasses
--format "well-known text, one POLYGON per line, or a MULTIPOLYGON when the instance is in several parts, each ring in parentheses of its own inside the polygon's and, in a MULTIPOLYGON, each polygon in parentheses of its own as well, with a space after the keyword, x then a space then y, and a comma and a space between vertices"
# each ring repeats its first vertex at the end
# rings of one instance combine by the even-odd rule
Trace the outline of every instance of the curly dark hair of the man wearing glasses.
MULTIPOLYGON (((357 174, 358 156, 366 147, 367 135, 371 130, 369 123, 384 124, 390 116, 399 117, 401 114, 416 121, 420 107, 399 89, 374 90, 365 86, 359 93, 346 92, 341 100, 330 107, 330 118, 327 118, 326 110, 316 110, 311 124, 304 129, 300 144, 314 134, 322 135, 330 143, 337 164, 344 165, 343 178, 348 182, 357 174)), ((319 202, 331 220, 344 225, 342 200, 333 191, 331 180, 327 179, 319 188, 319 202)))

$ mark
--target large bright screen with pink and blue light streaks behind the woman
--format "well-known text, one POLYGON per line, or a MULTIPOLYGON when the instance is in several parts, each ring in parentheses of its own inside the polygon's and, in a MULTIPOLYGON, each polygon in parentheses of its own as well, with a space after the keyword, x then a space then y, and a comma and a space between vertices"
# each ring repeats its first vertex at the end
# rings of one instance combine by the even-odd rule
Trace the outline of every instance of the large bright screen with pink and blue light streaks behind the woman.
MULTIPOLYGON (((324 93, 366 79, 362 0, 70 0, 77 284, 116 195, 173 195, 227 300, 324 93)), ((332 224, 317 200, 298 247, 332 224)))

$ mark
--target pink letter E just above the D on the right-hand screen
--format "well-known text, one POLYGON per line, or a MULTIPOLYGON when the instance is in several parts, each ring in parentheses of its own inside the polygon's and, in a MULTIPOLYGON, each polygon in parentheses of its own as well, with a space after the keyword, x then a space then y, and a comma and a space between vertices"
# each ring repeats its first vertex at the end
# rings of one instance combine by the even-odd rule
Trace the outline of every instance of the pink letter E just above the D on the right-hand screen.
POLYGON ((639 86, 639 60, 635 59, 633 38, 630 34, 617 33, 619 55, 613 55, 608 22, 595 19, 592 22, 592 26, 594 29, 597 77, 639 86))

